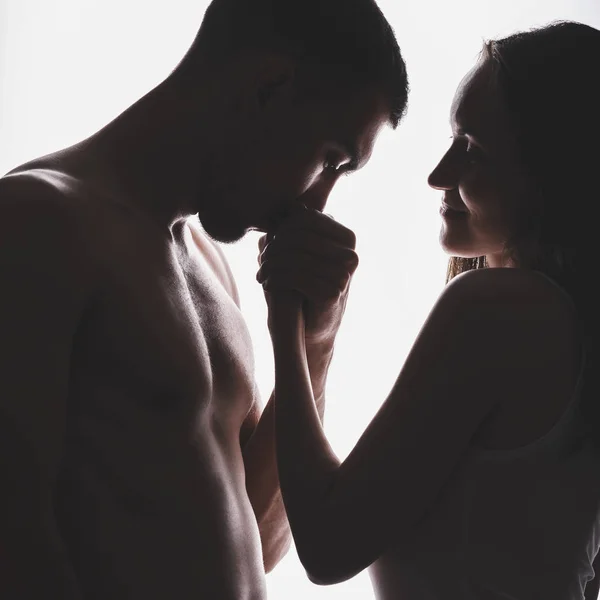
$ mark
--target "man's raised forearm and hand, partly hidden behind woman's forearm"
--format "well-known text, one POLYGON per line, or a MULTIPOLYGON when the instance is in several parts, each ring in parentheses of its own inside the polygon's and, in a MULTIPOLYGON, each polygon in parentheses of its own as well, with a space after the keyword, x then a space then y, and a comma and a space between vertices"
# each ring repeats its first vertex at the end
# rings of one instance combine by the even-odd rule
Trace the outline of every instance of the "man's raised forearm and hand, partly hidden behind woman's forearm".
MULTIPOLYGON (((259 241, 260 269, 257 280, 263 285, 267 304, 270 298, 269 281, 265 278, 267 272, 279 272, 279 276, 287 285, 302 293, 305 298, 304 309, 310 323, 305 330, 306 361, 315 414, 321 424, 325 411, 325 384, 333 356, 334 341, 344 314, 352 273, 358 265, 358 257, 354 252, 355 244, 356 238, 350 230, 303 204, 298 204, 290 210, 288 219, 279 226, 275 236, 265 235, 259 241), (273 248, 278 250, 274 253, 273 248)), ((276 502, 274 497, 264 495, 273 489, 264 479, 259 480, 260 483, 249 493, 251 498, 258 499, 261 506, 272 507, 272 512, 264 513, 269 525, 270 516, 273 522, 281 523, 280 527, 283 527, 285 522, 287 539, 289 525, 279 488, 275 448, 275 404, 276 398, 273 393, 245 455, 250 457, 254 454, 261 457, 266 468, 266 471, 260 471, 260 465, 252 465, 248 472, 262 473, 263 478, 270 477, 271 481, 276 482, 276 502), (268 461, 265 460, 266 456, 268 461), (267 475, 271 473, 272 475, 267 475)), ((246 460, 247 464, 251 461, 250 458, 246 460)), ((279 529, 281 538, 272 535, 272 539, 275 542, 283 539, 283 531, 283 528, 279 529)), ((273 565, 285 553, 281 553, 281 548, 282 544, 277 543, 273 548, 273 565)), ((267 560, 266 558, 265 564, 268 565, 267 560)))

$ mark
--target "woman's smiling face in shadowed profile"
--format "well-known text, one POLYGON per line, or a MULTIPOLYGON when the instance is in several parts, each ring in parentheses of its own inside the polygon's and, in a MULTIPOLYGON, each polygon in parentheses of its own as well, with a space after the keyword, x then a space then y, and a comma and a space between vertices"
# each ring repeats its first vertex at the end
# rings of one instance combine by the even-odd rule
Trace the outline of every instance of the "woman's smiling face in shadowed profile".
POLYGON ((440 243, 452 256, 511 266, 503 252, 529 211, 531 186, 488 63, 460 83, 450 124, 452 145, 429 176, 429 185, 444 192, 440 243))

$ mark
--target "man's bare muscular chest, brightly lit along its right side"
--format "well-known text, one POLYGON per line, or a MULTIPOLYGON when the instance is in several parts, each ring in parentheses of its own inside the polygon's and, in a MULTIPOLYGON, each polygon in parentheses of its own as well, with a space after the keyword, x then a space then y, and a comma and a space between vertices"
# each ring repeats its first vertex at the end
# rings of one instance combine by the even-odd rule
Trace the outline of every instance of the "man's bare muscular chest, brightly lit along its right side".
POLYGON ((110 261, 77 341, 76 375, 177 420, 209 411, 239 427, 254 399, 243 317, 201 258, 164 252, 110 261))

